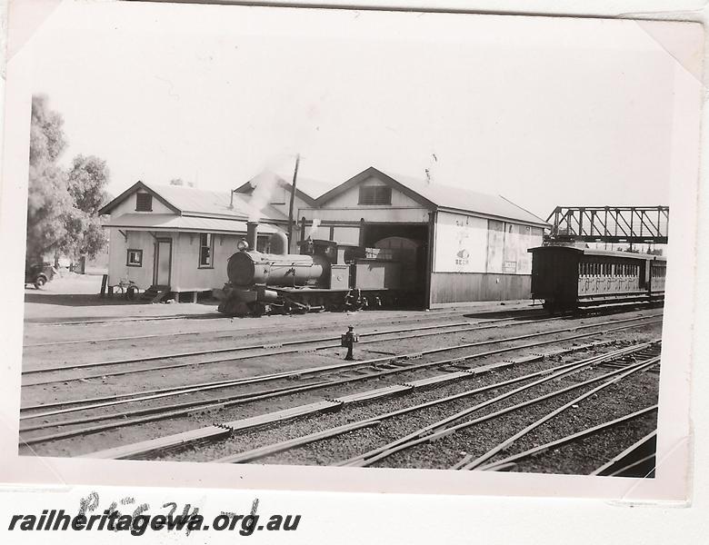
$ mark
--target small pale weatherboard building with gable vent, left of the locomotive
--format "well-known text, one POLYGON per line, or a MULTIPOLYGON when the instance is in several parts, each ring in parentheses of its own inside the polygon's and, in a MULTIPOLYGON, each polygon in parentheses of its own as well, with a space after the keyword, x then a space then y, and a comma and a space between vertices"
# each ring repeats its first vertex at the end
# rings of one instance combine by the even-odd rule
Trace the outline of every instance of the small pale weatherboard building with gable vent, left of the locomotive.
POLYGON ((107 203, 110 214, 108 285, 135 282, 141 290, 195 300, 226 282, 226 262, 245 238, 249 219, 260 223, 259 246, 285 229, 274 207, 254 207, 245 195, 138 182, 107 203))

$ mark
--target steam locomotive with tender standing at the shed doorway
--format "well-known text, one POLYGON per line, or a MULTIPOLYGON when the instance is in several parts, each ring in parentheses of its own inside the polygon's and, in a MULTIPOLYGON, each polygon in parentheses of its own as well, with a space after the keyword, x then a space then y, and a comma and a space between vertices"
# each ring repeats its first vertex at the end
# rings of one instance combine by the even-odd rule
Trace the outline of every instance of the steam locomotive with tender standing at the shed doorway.
POLYGON ((364 310, 420 305, 423 290, 409 274, 420 254, 409 239, 389 237, 364 248, 354 244, 306 239, 300 253, 287 253, 284 233, 269 239, 269 252, 255 251, 255 227, 229 258, 229 282, 217 295, 219 312, 228 315, 266 312, 364 310), (392 240, 396 239, 396 240, 392 240))

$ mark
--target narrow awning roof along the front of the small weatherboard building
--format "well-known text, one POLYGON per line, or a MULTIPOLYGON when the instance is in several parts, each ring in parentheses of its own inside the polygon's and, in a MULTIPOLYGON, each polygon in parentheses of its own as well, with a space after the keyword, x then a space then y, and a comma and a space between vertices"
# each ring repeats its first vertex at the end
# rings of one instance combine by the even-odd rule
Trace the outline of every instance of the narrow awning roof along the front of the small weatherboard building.
MULTIPOLYGON (((200 216, 179 216, 172 213, 124 213, 104 227, 116 227, 127 230, 150 231, 188 231, 191 233, 246 233, 246 222, 223 218, 205 218, 200 216)), ((259 223, 258 232, 271 234, 279 231, 273 225, 259 223)))

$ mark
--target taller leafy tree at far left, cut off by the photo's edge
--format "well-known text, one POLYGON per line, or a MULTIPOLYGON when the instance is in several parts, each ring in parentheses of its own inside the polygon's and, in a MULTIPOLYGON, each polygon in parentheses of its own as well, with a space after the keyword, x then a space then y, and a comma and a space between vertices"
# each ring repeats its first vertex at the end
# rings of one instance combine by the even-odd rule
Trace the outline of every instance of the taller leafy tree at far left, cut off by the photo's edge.
POLYGON ((62 116, 49 110, 45 96, 33 96, 30 123, 27 259, 42 261, 65 236, 65 213, 72 206, 66 175, 56 164, 66 146, 62 116))

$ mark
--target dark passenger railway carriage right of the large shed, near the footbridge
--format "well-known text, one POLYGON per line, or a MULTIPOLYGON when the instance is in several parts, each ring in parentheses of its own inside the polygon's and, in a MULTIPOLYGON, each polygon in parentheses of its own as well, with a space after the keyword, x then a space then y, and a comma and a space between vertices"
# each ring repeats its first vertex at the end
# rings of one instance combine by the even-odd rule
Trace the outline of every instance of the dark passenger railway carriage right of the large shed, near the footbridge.
POLYGON ((664 299, 664 257, 571 246, 531 248, 532 297, 548 311, 664 299))

